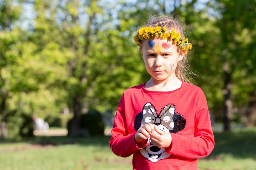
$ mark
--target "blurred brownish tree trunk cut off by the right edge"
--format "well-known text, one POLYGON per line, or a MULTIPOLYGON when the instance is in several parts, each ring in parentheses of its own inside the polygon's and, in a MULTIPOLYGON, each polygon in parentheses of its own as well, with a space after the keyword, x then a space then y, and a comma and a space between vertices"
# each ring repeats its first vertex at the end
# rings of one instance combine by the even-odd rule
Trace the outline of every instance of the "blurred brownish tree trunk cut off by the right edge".
POLYGON ((246 110, 246 126, 256 126, 256 88, 252 94, 251 101, 246 110))

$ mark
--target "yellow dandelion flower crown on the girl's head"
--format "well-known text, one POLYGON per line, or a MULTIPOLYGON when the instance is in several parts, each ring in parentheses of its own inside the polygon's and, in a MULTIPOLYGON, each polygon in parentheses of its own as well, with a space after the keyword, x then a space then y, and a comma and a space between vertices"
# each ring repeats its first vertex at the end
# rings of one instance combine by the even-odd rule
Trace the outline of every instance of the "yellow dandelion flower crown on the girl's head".
POLYGON ((188 39, 185 37, 181 38, 181 34, 177 33, 175 29, 172 29, 172 32, 167 32, 166 27, 160 27, 156 26, 153 27, 142 27, 139 30, 137 30, 137 34, 134 36, 134 42, 137 45, 140 45, 142 40, 144 39, 150 39, 153 37, 160 36, 161 39, 172 39, 172 44, 175 44, 178 46, 178 48, 184 53, 187 54, 187 51, 192 48, 192 44, 188 43, 188 39))

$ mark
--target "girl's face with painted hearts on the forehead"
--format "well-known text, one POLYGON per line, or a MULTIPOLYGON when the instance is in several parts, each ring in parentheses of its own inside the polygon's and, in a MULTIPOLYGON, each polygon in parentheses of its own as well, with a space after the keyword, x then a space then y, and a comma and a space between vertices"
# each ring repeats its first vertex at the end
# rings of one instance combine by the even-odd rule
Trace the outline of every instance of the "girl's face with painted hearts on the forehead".
POLYGON ((176 44, 167 39, 146 39, 140 46, 146 70, 156 81, 175 78, 178 61, 183 54, 177 52, 176 44))

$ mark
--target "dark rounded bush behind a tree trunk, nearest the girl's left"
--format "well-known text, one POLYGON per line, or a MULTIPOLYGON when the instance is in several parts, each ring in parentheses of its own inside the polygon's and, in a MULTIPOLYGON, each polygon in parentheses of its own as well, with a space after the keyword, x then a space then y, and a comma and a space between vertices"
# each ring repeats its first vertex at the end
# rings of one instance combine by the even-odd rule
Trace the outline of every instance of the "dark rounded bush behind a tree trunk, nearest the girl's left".
MULTIPOLYGON (((67 124, 69 132, 71 120, 69 120, 67 124)), ((103 135, 105 129, 105 125, 102 120, 101 114, 95 110, 89 110, 87 114, 82 114, 80 127, 82 129, 86 129, 92 136, 103 135)))

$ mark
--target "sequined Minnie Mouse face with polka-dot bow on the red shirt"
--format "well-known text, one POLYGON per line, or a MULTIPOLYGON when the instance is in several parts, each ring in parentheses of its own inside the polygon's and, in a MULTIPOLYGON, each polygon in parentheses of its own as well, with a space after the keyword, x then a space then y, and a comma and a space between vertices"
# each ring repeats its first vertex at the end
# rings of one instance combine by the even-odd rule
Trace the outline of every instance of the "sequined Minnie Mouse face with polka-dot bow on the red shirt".
MULTIPOLYGON (((167 104, 158 115, 155 107, 151 103, 146 103, 143 106, 142 112, 135 118, 134 128, 137 131, 140 126, 148 123, 156 125, 164 132, 178 133, 185 128, 186 119, 183 115, 175 112, 174 104, 167 104)), ((152 144, 150 138, 146 146, 140 149, 140 153, 151 162, 157 162, 171 155, 166 153, 164 148, 159 148, 152 144)))

